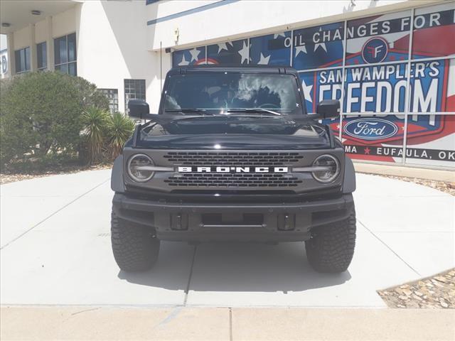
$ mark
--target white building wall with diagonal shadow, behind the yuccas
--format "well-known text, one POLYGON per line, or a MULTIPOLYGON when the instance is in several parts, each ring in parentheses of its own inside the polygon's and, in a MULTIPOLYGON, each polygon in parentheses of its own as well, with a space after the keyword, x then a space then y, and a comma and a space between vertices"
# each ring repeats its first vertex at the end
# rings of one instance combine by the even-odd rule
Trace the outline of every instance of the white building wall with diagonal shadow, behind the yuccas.
POLYGON ((144 79, 151 109, 158 107, 159 53, 146 49, 143 1, 85 1, 77 7, 77 75, 117 89, 124 110, 124 79, 144 79))

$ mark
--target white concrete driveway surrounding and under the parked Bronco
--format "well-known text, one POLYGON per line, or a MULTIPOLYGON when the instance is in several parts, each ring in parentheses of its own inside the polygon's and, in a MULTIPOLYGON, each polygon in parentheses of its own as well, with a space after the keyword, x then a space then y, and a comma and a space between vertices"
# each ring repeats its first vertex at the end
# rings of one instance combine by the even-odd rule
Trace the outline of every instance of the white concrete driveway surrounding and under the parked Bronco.
POLYGON ((376 291, 455 266, 454 197, 358 174, 358 237, 344 274, 318 274, 303 243, 164 242, 156 267, 114 263, 110 171, 1 185, 2 305, 383 307, 376 291))

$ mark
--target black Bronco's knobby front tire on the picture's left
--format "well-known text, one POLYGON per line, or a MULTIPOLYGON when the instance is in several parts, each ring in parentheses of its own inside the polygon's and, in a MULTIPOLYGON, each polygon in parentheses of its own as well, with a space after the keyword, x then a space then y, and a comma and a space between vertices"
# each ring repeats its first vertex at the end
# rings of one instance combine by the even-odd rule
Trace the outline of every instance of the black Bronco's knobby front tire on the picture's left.
POLYGON ((114 259, 123 271, 145 271, 154 266, 159 254, 159 239, 154 229, 120 220, 112 211, 111 242, 114 259))

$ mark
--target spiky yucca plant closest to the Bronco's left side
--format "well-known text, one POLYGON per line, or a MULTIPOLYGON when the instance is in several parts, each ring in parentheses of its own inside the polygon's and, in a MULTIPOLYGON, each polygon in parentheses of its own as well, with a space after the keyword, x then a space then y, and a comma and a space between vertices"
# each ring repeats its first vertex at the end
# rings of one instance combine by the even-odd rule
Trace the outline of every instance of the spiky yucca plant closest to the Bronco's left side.
POLYGON ((127 142, 134 131, 134 121, 129 117, 124 116, 121 112, 115 112, 107 121, 107 145, 111 157, 117 158, 124 144, 127 142))

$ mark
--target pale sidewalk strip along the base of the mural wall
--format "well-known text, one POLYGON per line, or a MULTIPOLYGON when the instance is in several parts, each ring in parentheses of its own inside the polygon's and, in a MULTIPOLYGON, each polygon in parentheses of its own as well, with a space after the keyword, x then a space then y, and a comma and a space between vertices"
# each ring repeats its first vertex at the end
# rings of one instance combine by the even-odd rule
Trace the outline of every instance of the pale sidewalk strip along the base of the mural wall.
POLYGON ((455 183, 455 170, 445 171, 439 169, 388 166, 360 162, 354 162, 354 168, 358 173, 405 176, 407 178, 418 178, 455 183))

